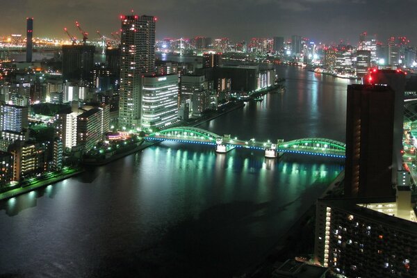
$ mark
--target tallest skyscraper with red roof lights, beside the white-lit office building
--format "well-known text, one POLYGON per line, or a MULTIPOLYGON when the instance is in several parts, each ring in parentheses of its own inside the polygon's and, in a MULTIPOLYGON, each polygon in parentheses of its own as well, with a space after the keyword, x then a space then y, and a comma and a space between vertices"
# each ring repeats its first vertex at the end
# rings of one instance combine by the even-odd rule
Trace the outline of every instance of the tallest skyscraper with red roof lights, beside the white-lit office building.
POLYGON ((120 128, 140 125, 141 79, 155 68, 156 18, 123 15, 120 48, 120 128))

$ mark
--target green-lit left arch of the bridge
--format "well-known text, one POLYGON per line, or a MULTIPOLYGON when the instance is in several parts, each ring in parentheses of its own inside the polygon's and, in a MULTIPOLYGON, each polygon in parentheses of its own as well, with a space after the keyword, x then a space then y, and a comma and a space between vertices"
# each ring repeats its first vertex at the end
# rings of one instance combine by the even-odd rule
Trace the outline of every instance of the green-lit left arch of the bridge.
POLYGON ((172 138, 177 140, 197 140, 215 142, 216 138, 222 137, 205 129, 199 129, 192 126, 176 126, 170 129, 164 129, 150 133, 150 138, 172 138))

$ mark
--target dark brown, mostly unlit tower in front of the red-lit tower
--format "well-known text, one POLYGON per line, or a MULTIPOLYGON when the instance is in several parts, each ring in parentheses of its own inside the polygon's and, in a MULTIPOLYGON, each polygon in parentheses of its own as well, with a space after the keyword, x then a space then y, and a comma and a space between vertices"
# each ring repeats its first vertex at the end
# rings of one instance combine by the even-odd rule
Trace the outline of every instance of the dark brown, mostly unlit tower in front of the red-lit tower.
POLYGON ((347 86, 346 197, 393 195, 394 99, 384 85, 347 86))

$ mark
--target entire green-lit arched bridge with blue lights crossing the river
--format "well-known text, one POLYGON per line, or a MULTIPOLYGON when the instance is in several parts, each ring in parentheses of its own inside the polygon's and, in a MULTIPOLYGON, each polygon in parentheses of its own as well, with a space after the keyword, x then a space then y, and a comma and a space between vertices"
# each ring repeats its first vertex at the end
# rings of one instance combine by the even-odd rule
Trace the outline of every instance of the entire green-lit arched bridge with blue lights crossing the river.
POLYGON ((345 143, 326 138, 302 138, 291 141, 277 140, 277 142, 259 142, 254 138, 240 140, 229 135, 219 136, 204 129, 190 126, 177 126, 150 133, 146 140, 166 140, 185 142, 190 144, 213 145, 218 153, 226 153, 239 147, 259 149, 265 152, 266 157, 275 158, 284 153, 309 154, 345 158, 345 143))

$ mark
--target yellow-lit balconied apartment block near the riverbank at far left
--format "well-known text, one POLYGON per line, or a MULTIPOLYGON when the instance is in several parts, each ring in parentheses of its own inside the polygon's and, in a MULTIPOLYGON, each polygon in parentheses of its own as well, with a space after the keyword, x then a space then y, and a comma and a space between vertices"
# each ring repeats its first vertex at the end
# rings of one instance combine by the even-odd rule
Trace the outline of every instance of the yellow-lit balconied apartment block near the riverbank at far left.
POLYGON ((16 140, 9 146, 13 154, 13 179, 20 181, 47 171, 47 148, 43 144, 16 140))

